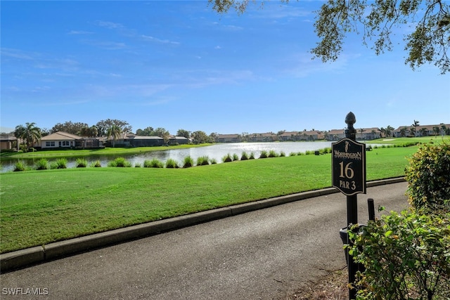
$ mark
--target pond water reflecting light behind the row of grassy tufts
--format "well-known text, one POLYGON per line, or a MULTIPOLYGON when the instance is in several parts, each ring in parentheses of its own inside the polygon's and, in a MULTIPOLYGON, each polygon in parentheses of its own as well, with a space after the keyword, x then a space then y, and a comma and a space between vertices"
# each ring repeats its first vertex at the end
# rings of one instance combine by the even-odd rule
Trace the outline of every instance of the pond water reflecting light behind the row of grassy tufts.
MULTIPOLYGON (((274 150, 276 153, 280 154, 281 151, 285 153, 286 156, 290 155, 290 152, 306 152, 308 150, 314 151, 323 148, 330 148, 332 142, 283 142, 283 143, 221 143, 216 145, 210 145, 206 147, 198 147, 198 148, 186 148, 186 149, 167 149, 160 151, 152 151, 134 155, 117 155, 116 157, 124 157, 127 159, 133 166, 135 164, 143 165, 143 162, 148 159, 151 160, 153 158, 159 159, 161 162, 166 162, 167 159, 172 158, 175 159, 176 162, 181 165, 183 160, 187 156, 191 156, 194 162, 197 161, 198 157, 210 157, 210 159, 216 159, 217 163, 220 164, 222 162, 222 157, 230 154, 240 156, 242 152, 245 151, 250 155, 251 152, 254 153, 255 158, 258 158, 261 154, 262 150, 267 152, 274 150)), ((96 160, 100 160, 102 167, 107 167, 108 162, 116 158, 115 156, 99 156, 92 155, 89 157, 83 157, 88 161, 88 164, 91 162, 96 162, 96 160)), ((75 167, 75 160, 77 157, 68 158, 68 168, 75 167)), ((28 166, 33 166, 34 163, 38 159, 11 159, 4 160, 1 162, 2 168, 1 172, 12 171, 14 168, 15 162, 18 160, 25 161, 28 166)), ((50 159, 50 161, 56 159, 50 159)))

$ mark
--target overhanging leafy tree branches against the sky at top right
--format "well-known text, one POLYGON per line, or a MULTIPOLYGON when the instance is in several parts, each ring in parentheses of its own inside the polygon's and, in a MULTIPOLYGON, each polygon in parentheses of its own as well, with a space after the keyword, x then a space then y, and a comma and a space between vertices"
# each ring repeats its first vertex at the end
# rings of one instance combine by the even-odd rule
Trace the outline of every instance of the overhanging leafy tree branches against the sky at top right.
MULTIPOLYGON (((287 3, 289 0, 281 0, 287 3)), ((212 9, 244 13, 250 0, 208 0, 212 9)), ((255 2, 255 1, 251 1, 255 2)), ((391 51, 395 30, 405 27, 405 64, 413 70, 433 63, 442 74, 449 72, 450 1, 445 0, 328 0, 316 11, 315 32, 319 37, 311 48, 313 58, 334 61, 342 52, 349 33, 361 34, 362 43, 377 55, 391 51), (369 45, 369 43, 373 43, 369 45)))

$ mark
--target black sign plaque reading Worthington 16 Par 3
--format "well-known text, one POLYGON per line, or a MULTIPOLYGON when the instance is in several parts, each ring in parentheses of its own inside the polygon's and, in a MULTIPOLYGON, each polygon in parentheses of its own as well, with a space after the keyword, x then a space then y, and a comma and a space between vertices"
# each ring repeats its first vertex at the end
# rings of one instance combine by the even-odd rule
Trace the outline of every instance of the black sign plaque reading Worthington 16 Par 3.
POLYGON ((342 138, 331 145, 333 187, 347 196, 366 193, 366 144, 342 138))

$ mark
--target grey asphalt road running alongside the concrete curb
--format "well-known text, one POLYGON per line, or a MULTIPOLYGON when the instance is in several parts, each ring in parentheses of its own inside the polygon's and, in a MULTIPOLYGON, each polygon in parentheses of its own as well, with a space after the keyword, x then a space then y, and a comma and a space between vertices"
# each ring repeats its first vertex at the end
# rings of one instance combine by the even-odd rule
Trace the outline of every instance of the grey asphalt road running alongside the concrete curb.
MULTIPOLYGON (((359 223, 369 197, 408 207, 406 186, 358 195, 359 223)), ((0 299, 285 299, 345 267, 346 221, 345 195, 314 197, 1 274, 0 299)))

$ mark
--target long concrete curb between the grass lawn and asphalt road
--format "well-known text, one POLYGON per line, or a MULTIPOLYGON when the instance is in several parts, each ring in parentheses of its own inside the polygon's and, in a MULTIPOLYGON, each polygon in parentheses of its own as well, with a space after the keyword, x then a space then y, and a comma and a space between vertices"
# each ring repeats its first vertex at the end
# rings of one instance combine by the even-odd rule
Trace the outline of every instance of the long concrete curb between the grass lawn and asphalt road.
MULTIPOLYGON (((367 187, 371 188, 377 185, 400 183, 404 181, 404 178, 390 178, 380 181, 371 181, 367 183, 367 187)), ((42 246, 31 247, 15 252, 8 252, 5 254, 0 254, 0 270, 2 273, 4 273, 8 270, 24 268, 36 263, 43 263, 45 261, 51 261, 53 259, 60 259, 65 256, 70 256, 80 252, 86 252, 92 249, 98 249, 113 244, 120 244, 121 242, 136 240, 141 237, 157 235, 159 233, 164 233, 179 228, 193 226, 217 219, 223 219, 229 216, 236 216, 238 214, 244 214, 246 212, 255 211, 257 209, 274 207, 276 205, 295 202, 312 197, 329 195, 333 193, 339 193, 339 191, 335 188, 312 190, 304 193, 297 193, 293 195, 286 195, 266 200, 233 205, 231 207, 202 211, 195 214, 188 214, 186 216, 178 216, 171 219, 154 221, 136 226, 129 226, 126 228, 106 231, 104 233, 95 233, 93 235, 86 235, 84 237, 77 237, 75 239, 52 242, 50 244, 44 244, 42 246)))

